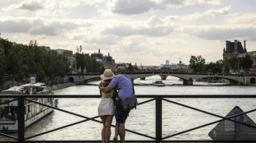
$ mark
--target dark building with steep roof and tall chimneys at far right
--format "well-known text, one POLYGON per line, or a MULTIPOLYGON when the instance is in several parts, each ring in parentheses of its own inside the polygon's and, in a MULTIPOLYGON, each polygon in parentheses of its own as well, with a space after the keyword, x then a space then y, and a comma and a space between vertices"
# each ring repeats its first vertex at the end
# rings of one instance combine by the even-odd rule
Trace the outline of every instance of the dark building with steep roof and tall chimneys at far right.
POLYGON ((232 57, 242 58, 246 55, 249 55, 253 60, 253 65, 249 69, 250 74, 256 73, 256 51, 247 52, 246 49, 246 40, 244 40, 244 47, 238 40, 235 42, 225 41, 225 48, 223 49, 223 60, 229 59, 232 57))

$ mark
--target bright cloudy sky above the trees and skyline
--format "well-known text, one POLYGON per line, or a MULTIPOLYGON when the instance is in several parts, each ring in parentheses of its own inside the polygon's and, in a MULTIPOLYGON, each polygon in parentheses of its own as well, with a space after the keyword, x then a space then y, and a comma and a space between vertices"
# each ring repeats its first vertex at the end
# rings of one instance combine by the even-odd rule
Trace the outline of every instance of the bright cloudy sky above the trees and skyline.
POLYGON ((255 0, 0 0, 0 33, 17 44, 110 53, 159 66, 222 59, 225 40, 256 51, 255 0))

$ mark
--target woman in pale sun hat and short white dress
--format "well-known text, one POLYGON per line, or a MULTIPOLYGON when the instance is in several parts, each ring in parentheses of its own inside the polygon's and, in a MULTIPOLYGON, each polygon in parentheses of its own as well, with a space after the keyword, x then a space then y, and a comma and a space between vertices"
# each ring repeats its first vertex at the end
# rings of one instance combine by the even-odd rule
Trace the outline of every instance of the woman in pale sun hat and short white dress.
MULTIPOLYGON (((114 77, 114 73, 110 69, 106 69, 104 74, 101 75, 102 81, 101 85, 106 87, 111 82, 111 79, 114 77)), ((98 105, 97 112, 98 116, 102 119, 102 143, 108 143, 111 136, 111 122, 114 116, 114 100, 113 97, 116 94, 116 90, 111 90, 108 93, 102 92, 102 99, 98 105)))

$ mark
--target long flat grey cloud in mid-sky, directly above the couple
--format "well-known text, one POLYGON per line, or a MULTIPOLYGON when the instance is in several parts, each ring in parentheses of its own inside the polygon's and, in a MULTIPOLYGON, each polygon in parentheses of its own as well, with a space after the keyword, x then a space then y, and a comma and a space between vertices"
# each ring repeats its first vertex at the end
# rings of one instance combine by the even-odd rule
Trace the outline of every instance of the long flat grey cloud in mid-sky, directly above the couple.
POLYGON ((173 31, 172 27, 162 26, 154 28, 133 28, 130 25, 119 25, 113 28, 109 28, 103 31, 103 33, 118 35, 118 36, 130 36, 130 35, 149 35, 149 36, 164 36, 173 31))

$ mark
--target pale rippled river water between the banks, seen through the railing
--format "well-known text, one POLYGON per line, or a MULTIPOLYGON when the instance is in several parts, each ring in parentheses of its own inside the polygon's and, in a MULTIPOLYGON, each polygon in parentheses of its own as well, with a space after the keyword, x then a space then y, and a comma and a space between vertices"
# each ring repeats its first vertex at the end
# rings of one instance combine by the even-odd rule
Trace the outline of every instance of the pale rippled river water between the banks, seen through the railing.
MULTIPOLYGON (((166 86, 159 87, 151 85, 153 81, 159 80, 159 76, 147 77, 145 81, 135 80, 136 95, 255 95, 255 86, 243 85, 225 85, 223 83, 209 84, 205 82, 194 81, 194 85, 182 85, 182 81, 173 76, 168 76, 164 81, 166 86)), ((97 84, 99 81, 90 82, 90 85, 75 85, 63 90, 55 91, 55 95, 96 95, 99 90, 97 84)), ((147 99, 138 99, 139 102, 147 99)), ((200 108, 210 113, 216 113, 225 116, 230 113, 235 106, 239 106, 244 112, 256 108, 255 99, 169 99, 175 102, 186 104, 194 108, 200 108)), ((78 113, 88 118, 97 116, 97 105, 100 98, 96 99, 59 99, 59 108, 78 113)), ((248 113, 249 118, 256 122, 256 113, 248 113)), ((220 118, 213 117, 205 113, 199 113, 189 108, 183 108, 176 104, 163 101, 163 137, 170 136, 180 131, 188 130, 192 127, 198 127, 209 122, 215 122, 220 118)), ((100 121, 100 118, 96 118, 100 121)), ((79 118, 68 113, 55 110, 46 118, 36 122, 31 127, 26 128, 26 137, 39 134, 44 131, 50 131, 57 127, 82 121, 79 118)), ((115 124, 113 118, 112 125, 115 124)), ((216 124, 203 127, 185 134, 173 136, 168 140, 211 140, 208 136, 209 131, 216 124)), ((130 112, 126 120, 126 129, 140 132, 147 136, 155 136, 155 101, 142 104, 136 110, 130 112)), ((67 127, 59 131, 54 131, 43 136, 37 136, 31 140, 40 141, 99 141, 101 140, 102 124, 88 121, 79 123, 72 127, 67 127)), ((114 128, 111 127, 111 138, 114 134, 114 128)), ((135 135, 126 131, 127 140, 151 140, 144 136, 135 135)))

